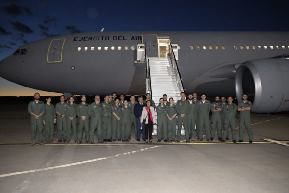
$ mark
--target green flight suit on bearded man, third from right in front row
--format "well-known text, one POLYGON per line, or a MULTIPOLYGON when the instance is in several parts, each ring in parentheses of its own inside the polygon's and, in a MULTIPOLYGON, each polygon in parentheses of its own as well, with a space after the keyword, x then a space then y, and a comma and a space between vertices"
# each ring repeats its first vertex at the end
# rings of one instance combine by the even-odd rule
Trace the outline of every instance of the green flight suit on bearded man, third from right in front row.
MULTIPOLYGON (((215 108, 222 108, 222 103, 212 102, 211 104, 211 138, 215 137, 215 130, 217 126, 218 138, 222 138, 222 111, 213 112, 215 108)), ((222 110, 222 109, 221 109, 222 110)))

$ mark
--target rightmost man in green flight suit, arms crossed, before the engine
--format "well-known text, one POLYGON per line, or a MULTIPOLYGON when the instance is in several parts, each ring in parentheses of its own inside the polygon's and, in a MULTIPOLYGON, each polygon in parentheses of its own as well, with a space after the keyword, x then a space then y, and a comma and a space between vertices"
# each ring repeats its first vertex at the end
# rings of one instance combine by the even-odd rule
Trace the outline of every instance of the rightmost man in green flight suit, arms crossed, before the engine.
POLYGON ((248 96, 246 94, 242 95, 242 101, 238 103, 238 111, 240 111, 239 117, 239 143, 243 142, 244 137, 244 125, 246 125, 247 133, 249 136, 249 143, 253 143, 253 133, 252 133, 252 126, 251 126, 251 115, 250 112, 252 110, 252 103, 251 101, 247 100, 248 96))

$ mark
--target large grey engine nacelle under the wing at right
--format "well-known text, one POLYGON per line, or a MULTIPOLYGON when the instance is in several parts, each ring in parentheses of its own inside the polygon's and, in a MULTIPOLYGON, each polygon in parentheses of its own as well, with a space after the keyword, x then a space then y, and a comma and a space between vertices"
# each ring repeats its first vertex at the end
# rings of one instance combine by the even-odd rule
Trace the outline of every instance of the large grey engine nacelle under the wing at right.
POLYGON ((235 77, 236 97, 252 101, 252 112, 289 110, 289 59, 257 59, 242 63, 235 77))

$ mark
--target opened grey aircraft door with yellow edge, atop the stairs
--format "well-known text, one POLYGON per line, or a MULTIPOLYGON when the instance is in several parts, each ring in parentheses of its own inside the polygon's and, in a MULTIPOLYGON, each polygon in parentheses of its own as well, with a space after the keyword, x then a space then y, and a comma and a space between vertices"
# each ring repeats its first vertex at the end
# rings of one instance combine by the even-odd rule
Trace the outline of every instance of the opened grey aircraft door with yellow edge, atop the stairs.
POLYGON ((158 57, 158 35, 141 35, 147 57, 158 57))

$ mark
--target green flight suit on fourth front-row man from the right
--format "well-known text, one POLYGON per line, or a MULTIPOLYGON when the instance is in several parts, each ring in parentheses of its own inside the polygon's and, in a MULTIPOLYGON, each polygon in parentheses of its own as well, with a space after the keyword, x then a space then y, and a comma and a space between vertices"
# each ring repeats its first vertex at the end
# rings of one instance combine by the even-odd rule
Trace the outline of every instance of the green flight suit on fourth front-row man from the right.
POLYGON ((197 102, 197 113, 198 113, 198 127, 199 129, 199 139, 203 139, 203 126, 205 126, 206 138, 210 139, 210 110, 211 102, 206 100, 204 103, 202 100, 197 102))

